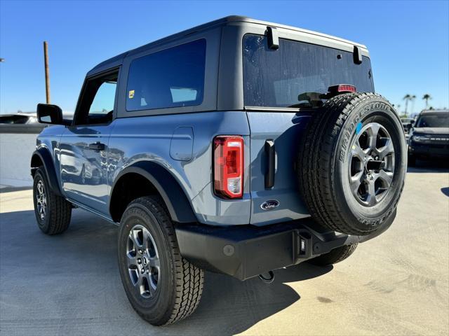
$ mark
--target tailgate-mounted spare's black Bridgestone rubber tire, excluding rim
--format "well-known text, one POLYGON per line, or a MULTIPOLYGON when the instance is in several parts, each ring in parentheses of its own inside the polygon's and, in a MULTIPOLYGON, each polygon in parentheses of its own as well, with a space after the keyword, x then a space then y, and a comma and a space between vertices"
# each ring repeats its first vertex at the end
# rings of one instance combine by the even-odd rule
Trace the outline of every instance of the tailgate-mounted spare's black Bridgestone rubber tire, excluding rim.
POLYGON ((348 235, 368 235, 395 216, 406 162, 406 139, 393 106, 374 93, 340 94, 311 116, 300 139, 296 165, 300 194, 312 218, 324 227, 348 235), (349 146, 358 139, 359 124, 373 123, 382 125, 391 136, 394 172, 382 202, 365 207, 349 188, 349 146))

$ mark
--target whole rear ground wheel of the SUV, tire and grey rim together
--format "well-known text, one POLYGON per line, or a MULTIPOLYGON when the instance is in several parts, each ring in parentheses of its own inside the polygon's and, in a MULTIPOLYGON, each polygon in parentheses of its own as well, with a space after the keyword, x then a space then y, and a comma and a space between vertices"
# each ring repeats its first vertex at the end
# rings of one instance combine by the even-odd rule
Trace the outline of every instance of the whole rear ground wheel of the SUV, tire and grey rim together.
POLYGON ((192 314, 203 292, 203 270, 180 255, 161 199, 141 197, 131 202, 120 225, 120 276, 135 311, 153 325, 192 314))

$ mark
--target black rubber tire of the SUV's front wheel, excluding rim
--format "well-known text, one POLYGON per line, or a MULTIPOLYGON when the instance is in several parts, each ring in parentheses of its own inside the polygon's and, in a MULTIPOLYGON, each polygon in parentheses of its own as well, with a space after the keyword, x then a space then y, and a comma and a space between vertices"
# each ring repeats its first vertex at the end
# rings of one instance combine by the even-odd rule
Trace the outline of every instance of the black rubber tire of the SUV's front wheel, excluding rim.
POLYGON ((37 225, 43 233, 46 235, 58 235, 69 228, 70 218, 72 217, 72 204, 67 202, 64 197, 53 193, 48 184, 46 172, 43 167, 38 168, 34 173, 33 201, 37 225), (39 183, 42 183, 40 186, 43 187, 46 196, 47 209, 43 218, 39 214, 36 199, 39 183))

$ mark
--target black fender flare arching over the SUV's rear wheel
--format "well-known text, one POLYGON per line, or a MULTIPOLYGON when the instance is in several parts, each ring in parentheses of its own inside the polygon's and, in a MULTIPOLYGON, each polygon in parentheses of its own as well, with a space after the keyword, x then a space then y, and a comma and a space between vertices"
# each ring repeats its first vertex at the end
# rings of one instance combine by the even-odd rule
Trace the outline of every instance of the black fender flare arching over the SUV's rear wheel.
POLYGON ((165 202, 168 213, 173 221, 177 223, 195 223, 198 221, 192 210, 189 198, 175 177, 167 169, 151 161, 135 162, 133 165, 123 169, 116 176, 111 193, 109 193, 109 212, 111 212, 111 199, 116 183, 122 176, 128 173, 140 174, 152 183, 161 195, 163 202, 165 202))

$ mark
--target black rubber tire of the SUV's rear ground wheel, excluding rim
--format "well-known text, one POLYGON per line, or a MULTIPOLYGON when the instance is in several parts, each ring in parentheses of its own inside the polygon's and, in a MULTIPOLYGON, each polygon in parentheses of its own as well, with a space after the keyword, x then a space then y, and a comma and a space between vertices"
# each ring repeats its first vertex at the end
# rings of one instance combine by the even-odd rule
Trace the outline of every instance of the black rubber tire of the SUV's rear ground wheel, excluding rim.
POLYGON ((152 325, 166 325, 195 311, 203 292, 203 270, 180 255, 173 223, 159 197, 140 197, 128 205, 121 218, 118 247, 123 288, 142 318, 152 325), (142 297, 128 273, 126 244, 135 225, 149 231, 159 253, 161 271, 154 297, 142 297))

